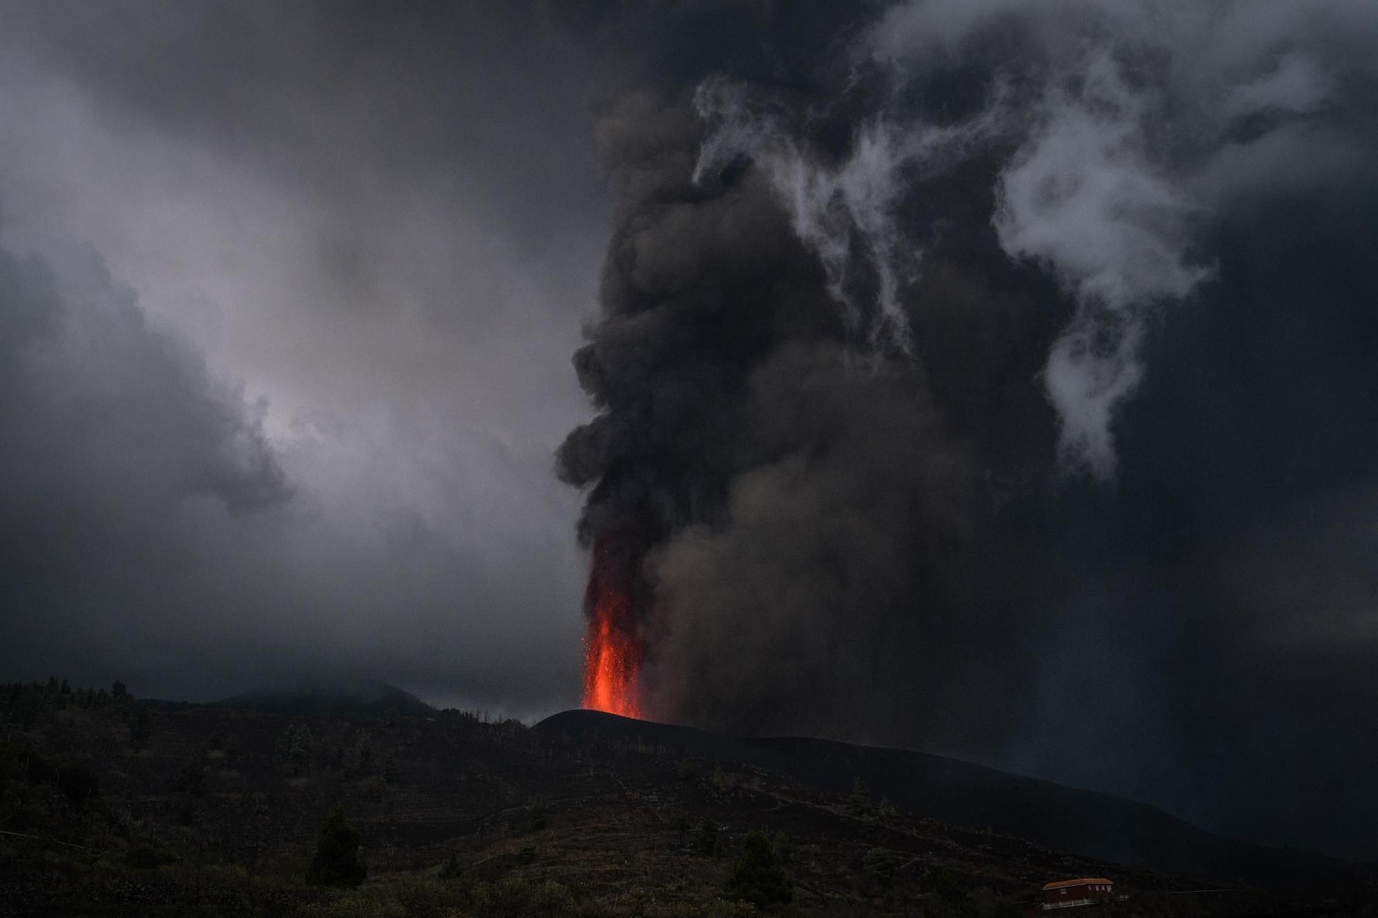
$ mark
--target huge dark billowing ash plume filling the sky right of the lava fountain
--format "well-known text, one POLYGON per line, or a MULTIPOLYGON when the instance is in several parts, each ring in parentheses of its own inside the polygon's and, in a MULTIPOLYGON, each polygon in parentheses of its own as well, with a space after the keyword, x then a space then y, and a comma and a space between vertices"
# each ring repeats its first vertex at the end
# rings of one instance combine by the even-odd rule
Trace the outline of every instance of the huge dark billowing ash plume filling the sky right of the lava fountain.
MULTIPOLYGON (((1374 480, 1375 26, 1076 0, 601 22, 616 230, 575 360, 599 414, 558 462, 582 536, 635 546, 645 714, 1257 834, 1248 797, 1305 771, 1243 769, 1269 725, 1378 695, 1357 664, 1262 678, 1280 613, 1240 589, 1277 562, 1261 532, 1305 539, 1283 507, 1374 480)), ((1288 839, 1335 824, 1302 809, 1288 839)))

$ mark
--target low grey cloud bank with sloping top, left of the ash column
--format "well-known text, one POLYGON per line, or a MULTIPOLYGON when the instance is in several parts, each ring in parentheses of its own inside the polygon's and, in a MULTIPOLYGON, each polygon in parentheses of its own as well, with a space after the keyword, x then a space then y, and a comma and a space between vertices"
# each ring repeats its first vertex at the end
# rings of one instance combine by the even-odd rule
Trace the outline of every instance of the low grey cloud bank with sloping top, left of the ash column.
POLYGON ((333 482, 302 444, 270 445, 255 407, 90 251, 61 283, 39 258, 3 269, 11 667, 196 696, 344 669, 528 711, 569 691, 559 582, 579 569, 559 567, 559 533, 532 543, 489 507, 419 502, 400 482, 456 480, 375 444, 357 448, 387 467, 333 482), (543 580, 514 595, 532 564, 543 580))

